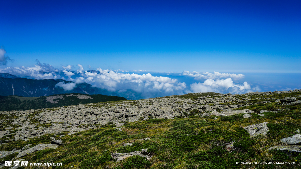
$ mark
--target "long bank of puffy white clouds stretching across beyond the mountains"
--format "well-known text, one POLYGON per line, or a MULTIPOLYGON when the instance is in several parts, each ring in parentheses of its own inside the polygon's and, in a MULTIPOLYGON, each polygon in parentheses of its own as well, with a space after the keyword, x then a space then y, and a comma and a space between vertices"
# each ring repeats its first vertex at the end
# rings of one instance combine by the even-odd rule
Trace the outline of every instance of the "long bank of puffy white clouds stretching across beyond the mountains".
MULTIPOLYGON (((247 93, 260 90, 258 86, 251 87, 247 81, 237 84, 234 81, 244 78, 243 74, 230 73, 209 73, 209 72, 189 72, 183 71, 180 75, 193 78, 191 84, 179 81, 177 78, 170 78, 163 75, 153 76, 150 72, 143 70, 109 70, 98 68, 96 70, 85 70, 78 64, 74 66, 62 66, 57 69, 46 63, 36 64, 32 67, 6 67, 0 69, 2 73, 10 73, 22 78, 30 79, 64 79, 72 81, 69 83, 60 82, 57 87, 64 90, 72 90, 79 83, 89 83, 93 87, 106 89, 117 93, 128 90, 140 94, 140 98, 161 97, 169 95, 179 95, 196 92, 216 92, 216 93, 247 93), (138 72, 143 72, 143 74, 138 72)), ((165 73, 166 75, 166 73, 165 73)), ((169 75, 169 74, 167 74, 169 75)))

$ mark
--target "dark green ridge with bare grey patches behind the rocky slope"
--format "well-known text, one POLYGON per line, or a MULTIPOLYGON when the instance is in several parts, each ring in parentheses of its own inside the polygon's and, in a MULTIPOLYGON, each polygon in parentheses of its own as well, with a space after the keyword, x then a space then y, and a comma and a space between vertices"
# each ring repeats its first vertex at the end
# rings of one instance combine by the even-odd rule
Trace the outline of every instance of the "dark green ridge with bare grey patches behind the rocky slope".
POLYGON ((78 93, 55 94, 42 97, 0 96, 0 111, 42 109, 116 100, 126 100, 126 98, 78 93))

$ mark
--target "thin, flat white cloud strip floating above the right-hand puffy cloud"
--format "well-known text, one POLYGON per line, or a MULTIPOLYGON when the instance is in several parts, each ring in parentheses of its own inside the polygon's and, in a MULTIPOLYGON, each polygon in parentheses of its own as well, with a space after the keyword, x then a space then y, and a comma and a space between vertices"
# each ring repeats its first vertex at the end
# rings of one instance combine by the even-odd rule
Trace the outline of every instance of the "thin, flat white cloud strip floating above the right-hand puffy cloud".
POLYGON ((189 71, 184 71, 182 73, 183 75, 187 75, 190 77, 194 77, 195 80, 200 80, 200 79, 220 79, 220 78, 233 78, 233 79, 240 79, 243 78, 243 74, 234 74, 234 73, 219 73, 219 72, 214 72, 214 73, 209 73, 209 72, 189 72, 189 71))

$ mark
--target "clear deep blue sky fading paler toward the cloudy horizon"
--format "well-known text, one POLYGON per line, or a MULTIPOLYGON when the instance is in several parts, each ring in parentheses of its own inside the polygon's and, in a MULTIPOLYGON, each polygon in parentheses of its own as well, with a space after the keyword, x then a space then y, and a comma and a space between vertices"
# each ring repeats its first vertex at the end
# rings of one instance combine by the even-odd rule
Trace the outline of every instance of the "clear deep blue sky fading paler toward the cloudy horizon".
POLYGON ((2 60, 14 60, 2 62, 1 69, 34 66, 38 59, 74 70, 80 64, 85 70, 146 70, 152 75, 253 73, 244 76, 248 83, 256 76, 256 81, 274 77, 272 81, 283 83, 277 77, 291 73, 287 88, 299 88, 293 81, 301 73, 300 1, 1 4, 2 60))

